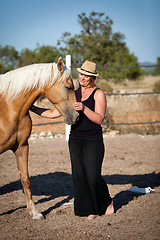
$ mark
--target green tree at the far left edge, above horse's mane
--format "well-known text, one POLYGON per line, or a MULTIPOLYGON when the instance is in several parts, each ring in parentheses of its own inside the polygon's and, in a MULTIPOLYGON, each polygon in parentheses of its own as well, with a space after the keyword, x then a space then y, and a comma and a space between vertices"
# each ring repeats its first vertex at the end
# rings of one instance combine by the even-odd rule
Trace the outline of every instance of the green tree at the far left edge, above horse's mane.
POLYGON ((6 73, 17 67, 19 54, 14 47, 0 45, 0 73, 6 73))

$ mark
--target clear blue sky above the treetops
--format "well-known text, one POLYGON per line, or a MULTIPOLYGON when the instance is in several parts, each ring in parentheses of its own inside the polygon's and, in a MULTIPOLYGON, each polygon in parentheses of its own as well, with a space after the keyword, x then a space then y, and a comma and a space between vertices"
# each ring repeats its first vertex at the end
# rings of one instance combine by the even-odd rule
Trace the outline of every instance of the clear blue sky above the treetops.
MULTIPOLYGON (((33 50, 37 43, 56 46, 64 32, 78 34, 78 14, 104 12, 113 20, 113 32, 139 62, 160 57, 159 0, 0 0, 0 45, 33 50)), ((54 60, 55 61, 55 60, 54 60)))

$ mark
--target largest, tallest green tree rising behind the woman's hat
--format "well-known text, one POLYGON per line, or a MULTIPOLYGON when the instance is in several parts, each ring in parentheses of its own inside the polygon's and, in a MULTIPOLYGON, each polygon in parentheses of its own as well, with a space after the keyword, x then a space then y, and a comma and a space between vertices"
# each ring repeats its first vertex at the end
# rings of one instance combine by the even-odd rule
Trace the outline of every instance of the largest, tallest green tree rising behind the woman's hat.
POLYGON ((121 82, 126 78, 135 79, 142 74, 139 68, 110 68, 116 66, 138 66, 137 58, 130 54, 125 44, 125 36, 113 33, 113 21, 104 13, 91 12, 78 15, 81 33, 71 37, 64 33, 58 44, 63 54, 71 54, 73 65, 81 65, 86 59, 98 65, 98 71, 105 79, 121 82))

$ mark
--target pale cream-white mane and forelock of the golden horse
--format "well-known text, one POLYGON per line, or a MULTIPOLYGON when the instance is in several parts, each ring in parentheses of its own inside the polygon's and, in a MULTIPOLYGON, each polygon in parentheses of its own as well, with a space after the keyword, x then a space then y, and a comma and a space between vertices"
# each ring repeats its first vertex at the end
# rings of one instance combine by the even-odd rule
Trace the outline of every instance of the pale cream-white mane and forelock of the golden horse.
MULTIPOLYGON (((17 68, 0 75, 0 94, 7 93, 9 99, 14 100, 22 91, 43 89, 49 81, 53 85, 58 78, 56 63, 37 63, 25 67, 17 68), (54 77, 51 79, 52 68, 54 77)), ((69 77, 70 71, 64 67, 61 81, 69 77)))

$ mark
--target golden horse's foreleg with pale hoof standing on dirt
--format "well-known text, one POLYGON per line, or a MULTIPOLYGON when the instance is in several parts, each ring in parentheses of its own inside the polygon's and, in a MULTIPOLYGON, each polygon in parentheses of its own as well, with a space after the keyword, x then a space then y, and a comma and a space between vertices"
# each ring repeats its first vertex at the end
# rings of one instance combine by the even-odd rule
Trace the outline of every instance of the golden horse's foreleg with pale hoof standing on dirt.
POLYGON ((38 211, 36 210, 32 199, 30 179, 28 174, 28 143, 26 143, 25 146, 19 147, 16 150, 15 155, 21 182, 26 196, 27 208, 29 210, 29 213, 33 216, 33 219, 43 218, 43 215, 41 213, 38 213, 38 211))

